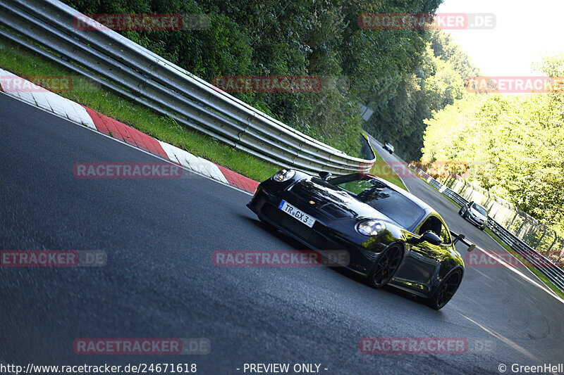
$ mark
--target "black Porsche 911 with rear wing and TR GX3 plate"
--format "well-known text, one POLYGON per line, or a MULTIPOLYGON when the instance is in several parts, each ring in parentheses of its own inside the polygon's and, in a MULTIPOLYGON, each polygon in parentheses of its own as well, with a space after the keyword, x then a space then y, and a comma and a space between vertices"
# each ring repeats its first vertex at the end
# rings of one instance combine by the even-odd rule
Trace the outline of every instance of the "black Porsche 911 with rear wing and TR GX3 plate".
POLYGON ((324 254, 347 250, 343 265, 375 288, 389 285, 425 298, 436 310, 462 281, 455 249, 463 235, 448 230, 427 203, 370 174, 329 179, 281 170, 259 184, 247 207, 259 220, 324 254))

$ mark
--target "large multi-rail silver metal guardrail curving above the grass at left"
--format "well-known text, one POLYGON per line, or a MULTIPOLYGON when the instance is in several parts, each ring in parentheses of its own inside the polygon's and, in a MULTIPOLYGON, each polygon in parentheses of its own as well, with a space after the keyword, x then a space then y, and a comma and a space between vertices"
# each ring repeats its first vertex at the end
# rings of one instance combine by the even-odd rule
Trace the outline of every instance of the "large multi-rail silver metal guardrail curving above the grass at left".
POLYGON ((262 160, 307 172, 369 172, 354 158, 280 122, 56 0, 0 1, 0 35, 106 89, 262 160), (92 21, 94 23, 94 21, 92 21), (98 24, 99 25, 99 24, 98 24))

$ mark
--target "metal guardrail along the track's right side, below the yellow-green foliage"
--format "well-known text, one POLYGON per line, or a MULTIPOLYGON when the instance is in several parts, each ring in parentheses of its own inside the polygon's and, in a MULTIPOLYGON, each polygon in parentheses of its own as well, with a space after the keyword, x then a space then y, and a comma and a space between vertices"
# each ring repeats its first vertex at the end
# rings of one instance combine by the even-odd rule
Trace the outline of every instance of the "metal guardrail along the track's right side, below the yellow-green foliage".
MULTIPOLYGON (((465 198, 462 198, 462 196, 460 196, 460 194, 458 194, 456 191, 453 191, 447 186, 444 186, 436 179, 429 176, 429 174, 425 173, 423 170, 420 170, 419 168, 411 164, 409 165, 409 167, 417 172, 419 176, 423 177, 431 186, 434 186, 435 189, 439 190, 440 193, 448 196, 448 198, 455 201, 458 205, 462 206, 468 203, 468 201, 465 198)), ((496 234, 496 236, 498 236, 498 238, 501 239, 503 243, 509 246, 517 254, 521 255, 523 259, 525 259, 530 265, 541 272, 541 274, 544 274, 544 276, 546 276, 552 282, 552 284, 560 288, 561 291, 564 291, 564 269, 558 267, 537 250, 534 250, 534 248, 527 245, 527 243, 518 239, 517 236, 515 236, 507 228, 496 222, 496 220, 494 220, 492 217, 488 217, 487 227, 494 234, 496 234)))

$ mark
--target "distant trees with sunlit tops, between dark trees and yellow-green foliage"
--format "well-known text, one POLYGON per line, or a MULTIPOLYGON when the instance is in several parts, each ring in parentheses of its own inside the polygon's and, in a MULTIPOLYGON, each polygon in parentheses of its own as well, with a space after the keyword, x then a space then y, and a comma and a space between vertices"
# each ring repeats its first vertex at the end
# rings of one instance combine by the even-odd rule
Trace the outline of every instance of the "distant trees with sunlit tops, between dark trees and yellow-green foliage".
POLYGON ((367 129, 384 141, 397 145, 406 160, 419 160, 419 145, 426 127, 423 120, 432 117, 465 92, 466 77, 480 75, 460 46, 441 30, 429 32, 429 42, 414 72, 403 71, 393 87, 367 93, 370 107, 376 108, 367 129))

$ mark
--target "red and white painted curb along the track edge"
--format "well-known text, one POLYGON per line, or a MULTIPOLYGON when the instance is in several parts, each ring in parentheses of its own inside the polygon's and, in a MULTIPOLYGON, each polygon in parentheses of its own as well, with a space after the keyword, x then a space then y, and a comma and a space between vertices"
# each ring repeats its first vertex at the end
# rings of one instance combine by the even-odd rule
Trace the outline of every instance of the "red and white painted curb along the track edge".
POLYGON ((104 133, 130 146, 141 148, 173 163, 202 174, 223 184, 234 186, 237 189, 255 192, 259 185, 253 179, 228 170, 226 167, 212 163, 209 160, 192 155, 188 151, 154 139, 137 129, 102 115, 91 108, 81 106, 74 101, 63 98, 51 91, 42 89, 32 82, 19 78, 11 72, 0 69, 0 89, 5 94, 19 98, 32 106, 52 112, 72 122, 89 127, 97 132, 104 133), (17 78, 18 84, 14 84, 17 78))

